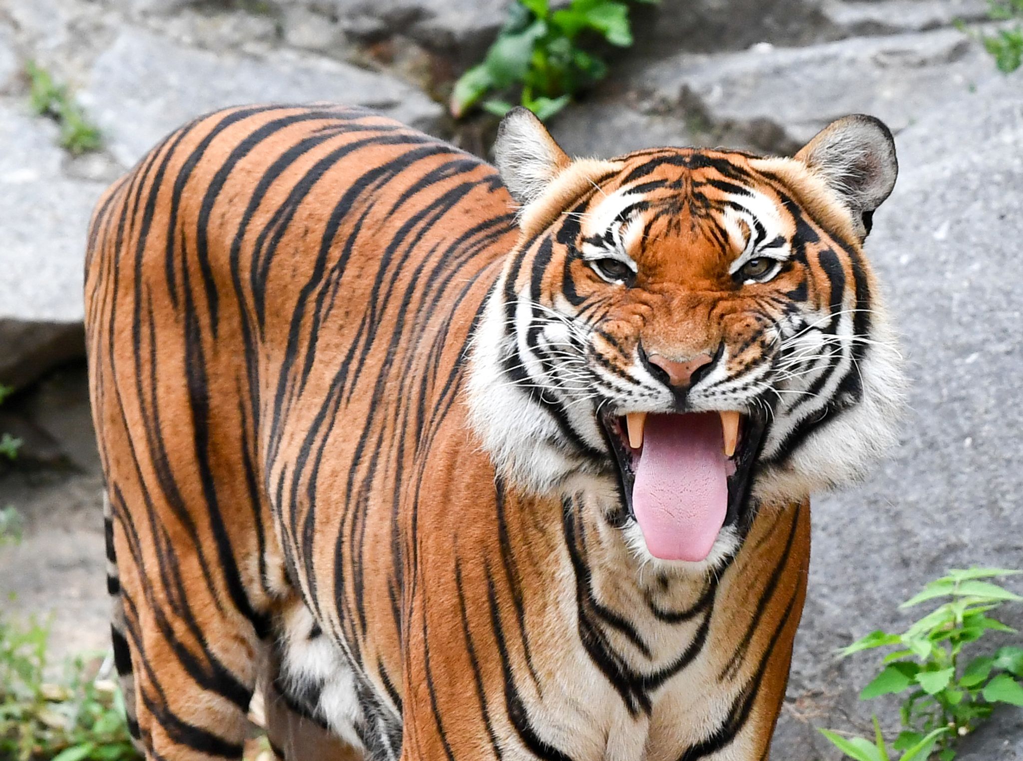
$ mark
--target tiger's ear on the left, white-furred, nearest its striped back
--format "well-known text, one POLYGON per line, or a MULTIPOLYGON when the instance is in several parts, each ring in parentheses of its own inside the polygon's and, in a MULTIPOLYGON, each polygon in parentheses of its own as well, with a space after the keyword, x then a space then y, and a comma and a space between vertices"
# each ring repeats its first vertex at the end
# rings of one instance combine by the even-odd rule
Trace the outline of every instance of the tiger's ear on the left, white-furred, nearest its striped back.
POLYGON ((497 128, 494 163, 511 197, 526 207, 572 160, 531 110, 518 106, 497 128))

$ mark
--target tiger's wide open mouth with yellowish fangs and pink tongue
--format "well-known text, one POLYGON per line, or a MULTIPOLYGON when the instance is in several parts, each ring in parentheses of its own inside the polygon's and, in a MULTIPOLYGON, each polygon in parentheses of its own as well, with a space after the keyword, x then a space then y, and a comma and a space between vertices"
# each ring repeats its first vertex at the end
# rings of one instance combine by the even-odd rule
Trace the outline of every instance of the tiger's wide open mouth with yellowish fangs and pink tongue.
POLYGON ((733 411, 602 413, 629 513, 666 561, 706 559, 749 502, 764 422, 733 411))

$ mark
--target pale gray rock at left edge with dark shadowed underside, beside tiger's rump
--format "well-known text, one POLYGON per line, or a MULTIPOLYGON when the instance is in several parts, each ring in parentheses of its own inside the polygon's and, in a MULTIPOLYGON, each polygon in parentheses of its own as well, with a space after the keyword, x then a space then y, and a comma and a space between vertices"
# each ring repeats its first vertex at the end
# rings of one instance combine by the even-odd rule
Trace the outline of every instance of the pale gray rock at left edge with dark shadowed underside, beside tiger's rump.
POLYGON ((82 255, 103 185, 65 179, 56 127, 0 101, 0 383, 23 386, 84 352, 82 255))

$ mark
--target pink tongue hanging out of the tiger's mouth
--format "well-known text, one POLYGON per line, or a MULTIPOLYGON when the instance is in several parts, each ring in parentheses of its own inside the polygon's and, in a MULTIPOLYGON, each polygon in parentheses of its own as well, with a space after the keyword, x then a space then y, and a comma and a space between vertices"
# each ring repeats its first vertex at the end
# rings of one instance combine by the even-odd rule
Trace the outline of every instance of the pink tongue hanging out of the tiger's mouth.
POLYGON ((652 555, 707 557, 728 508, 727 462, 717 413, 647 417, 632 507, 652 555))

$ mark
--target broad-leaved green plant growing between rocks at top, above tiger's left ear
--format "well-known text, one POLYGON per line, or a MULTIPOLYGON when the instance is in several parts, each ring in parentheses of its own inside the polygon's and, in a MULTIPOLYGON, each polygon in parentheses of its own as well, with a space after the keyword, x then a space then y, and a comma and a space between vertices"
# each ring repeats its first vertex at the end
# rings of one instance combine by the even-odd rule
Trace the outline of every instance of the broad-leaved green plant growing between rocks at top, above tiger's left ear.
MULTIPOLYGON (((460 117, 488 93, 520 87, 520 102, 539 119, 549 119, 607 76, 608 64, 592 51, 601 41, 632 44, 629 6, 623 0, 571 0, 558 9, 548 0, 518 0, 483 62, 455 83, 451 113, 460 117)), ((503 116, 513 106, 491 98, 483 107, 503 116)))

